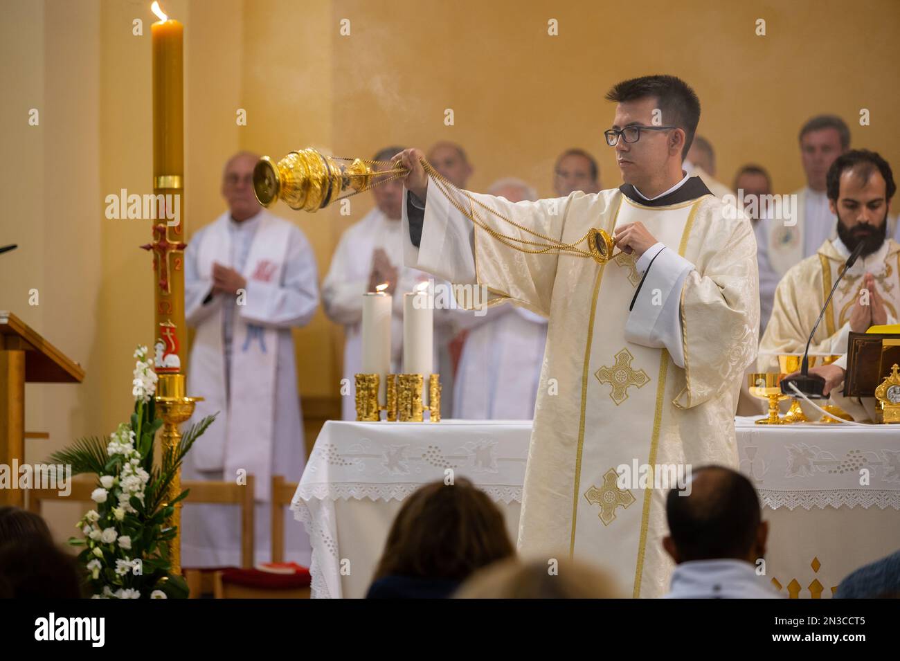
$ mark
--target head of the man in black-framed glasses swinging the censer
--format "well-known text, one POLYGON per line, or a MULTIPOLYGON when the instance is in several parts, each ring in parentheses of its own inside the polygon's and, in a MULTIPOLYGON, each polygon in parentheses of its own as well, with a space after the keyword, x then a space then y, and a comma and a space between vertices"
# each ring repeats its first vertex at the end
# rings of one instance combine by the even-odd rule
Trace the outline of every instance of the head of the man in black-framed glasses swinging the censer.
POLYGON ((648 196, 678 183, 700 121, 690 85, 675 76, 642 76, 617 83, 606 99, 617 103, 607 144, 616 147, 625 183, 648 196))

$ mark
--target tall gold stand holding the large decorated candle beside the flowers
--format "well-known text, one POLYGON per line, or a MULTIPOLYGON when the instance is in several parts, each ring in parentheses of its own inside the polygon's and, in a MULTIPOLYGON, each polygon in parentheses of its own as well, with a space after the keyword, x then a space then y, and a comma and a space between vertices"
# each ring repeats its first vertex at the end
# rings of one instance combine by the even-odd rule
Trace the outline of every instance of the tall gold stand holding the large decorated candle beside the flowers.
MULTIPOLYGON (((163 420, 163 427, 159 433, 163 451, 175 451, 181 442, 181 432, 178 425, 186 422, 193 415, 193 407, 196 402, 202 401, 202 397, 184 396, 184 374, 160 374, 157 382, 157 394, 154 397, 157 405, 157 415, 163 420)), ((165 507, 175 500, 181 493, 181 470, 175 471, 175 476, 169 483, 166 491, 165 507)), ((167 525, 176 527, 175 537, 167 542, 169 562, 172 564, 173 574, 181 574, 181 505, 183 501, 175 503, 175 512, 168 519, 167 525)))

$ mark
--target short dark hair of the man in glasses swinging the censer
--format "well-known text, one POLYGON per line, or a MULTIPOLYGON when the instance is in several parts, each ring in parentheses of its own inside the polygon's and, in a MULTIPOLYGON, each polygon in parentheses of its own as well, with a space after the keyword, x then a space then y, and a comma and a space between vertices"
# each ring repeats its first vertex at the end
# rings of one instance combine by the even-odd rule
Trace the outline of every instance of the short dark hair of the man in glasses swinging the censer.
POLYGON ((682 160, 694 141, 694 133, 700 123, 700 100, 690 85, 676 76, 641 76, 623 80, 608 91, 607 101, 626 103, 648 96, 656 99, 662 111, 662 123, 677 126, 684 131, 682 160))

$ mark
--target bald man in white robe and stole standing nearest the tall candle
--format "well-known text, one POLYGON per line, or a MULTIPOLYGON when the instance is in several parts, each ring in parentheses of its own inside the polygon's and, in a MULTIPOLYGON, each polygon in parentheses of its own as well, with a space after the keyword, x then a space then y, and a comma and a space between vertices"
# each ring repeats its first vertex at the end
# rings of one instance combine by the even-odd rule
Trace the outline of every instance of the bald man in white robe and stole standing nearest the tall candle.
MULTIPOLYGON (((249 152, 229 159, 221 184, 229 209, 184 253, 184 316, 197 329, 188 392, 204 397, 193 420, 219 412, 184 460, 184 478, 253 475, 256 559, 268 561, 271 478, 299 481, 306 457, 291 330, 315 313, 319 279, 300 229, 259 206, 257 160, 249 152)), ((309 567, 310 540, 286 508, 284 517, 285 559, 309 567)), ((186 503, 181 548, 184 567, 239 566, 238 507, 186 503)))

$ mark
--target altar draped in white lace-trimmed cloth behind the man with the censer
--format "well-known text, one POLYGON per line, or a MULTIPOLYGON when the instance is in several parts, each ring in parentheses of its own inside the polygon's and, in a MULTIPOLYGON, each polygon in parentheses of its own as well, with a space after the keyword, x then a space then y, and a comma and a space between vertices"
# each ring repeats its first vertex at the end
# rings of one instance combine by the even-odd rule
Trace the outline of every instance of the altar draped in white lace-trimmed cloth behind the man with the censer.
MULTIPOLYGON (((831 597, 844 576, 900 548, 900 429, 760 426, 736 418, 740 469, 770 522, 766 575, 781 594, 831 597)), ((291 508, 312 541, 312 595, 363 597, 402 501, 469 478, 518 531, 529 422, 329 421, 291 508)))

